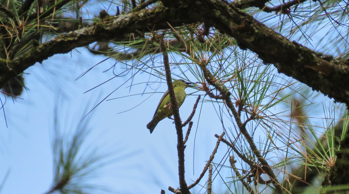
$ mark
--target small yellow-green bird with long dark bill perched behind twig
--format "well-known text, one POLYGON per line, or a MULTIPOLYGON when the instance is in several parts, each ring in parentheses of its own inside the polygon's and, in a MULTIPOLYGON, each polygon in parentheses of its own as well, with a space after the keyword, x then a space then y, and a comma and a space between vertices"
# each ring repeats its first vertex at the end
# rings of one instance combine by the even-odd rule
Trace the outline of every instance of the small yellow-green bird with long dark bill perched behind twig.
MULTIPOLYGON (((189 84, 195 84, 194 82, 185 82, 183 79, 174 80, 172 82, 174 95, 176 96, 176 100, 178 102, 178 108, 183 104, 185 100, 185 88, 187 87, 195 87, 189 84)), ((154 131, 157 123, 163 120, 166 117, 172 116, 172 108, 171 108, 171 100, 169 91, 166 91, 162 96, 159 104, 157 105, 155 114, 153 119, 147 124, 147 128, 150 131, 150 134, 154 131)))

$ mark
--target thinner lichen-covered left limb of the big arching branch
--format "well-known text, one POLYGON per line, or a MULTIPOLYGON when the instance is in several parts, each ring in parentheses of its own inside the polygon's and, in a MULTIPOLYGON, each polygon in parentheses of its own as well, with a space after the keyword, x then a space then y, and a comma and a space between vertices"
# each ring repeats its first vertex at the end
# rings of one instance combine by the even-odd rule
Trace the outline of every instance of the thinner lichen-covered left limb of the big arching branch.
POLYGON ((116 17, 107 16, 92 27, 59 35, 47 43, 32 48, 17 59, 0 59, 0 87, 10 78, 17 76, 36 62, 42 63, 43 60, 55 54, 67 53, 74 48, 96 41, 108 41, 110 39, 121 41, 129 33, 167 29, 169 28, 168 22, 174 27, 181 26, 183 22, 191 23, 189 19, 163 6, 116 17), (171 17, 171 15, 179 16, 171 17))

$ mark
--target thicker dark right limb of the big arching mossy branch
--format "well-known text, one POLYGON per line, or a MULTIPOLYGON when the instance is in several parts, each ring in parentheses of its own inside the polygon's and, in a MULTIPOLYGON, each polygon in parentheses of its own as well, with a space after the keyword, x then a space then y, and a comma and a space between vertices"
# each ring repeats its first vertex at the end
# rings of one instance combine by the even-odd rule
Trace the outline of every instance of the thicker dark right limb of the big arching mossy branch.
POLYGON ((318 53, 288 40, 224 1, 163 2, 172 9, 179 7, 190 16, 200 15, 205 24, 234 37, 240 48, 257 53, 266 64, 274 64, 280 73, 349 105, 349 66, 346 62, 324 60, 318 53))

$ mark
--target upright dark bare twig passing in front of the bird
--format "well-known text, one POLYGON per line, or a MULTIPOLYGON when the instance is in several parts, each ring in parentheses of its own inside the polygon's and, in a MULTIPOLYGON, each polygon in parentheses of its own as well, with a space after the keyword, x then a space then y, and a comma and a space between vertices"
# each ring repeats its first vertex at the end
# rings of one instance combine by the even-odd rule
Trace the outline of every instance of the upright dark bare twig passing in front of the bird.
POLYGON ((174 95, 173 91, 173 85, 172 85, 172 78, 171 78, 171 70, 170 70, 170 64, 169 64, 169 56, 166 51, 166 46, 164 43, 163 37, 161 38, 160 42, 160 49, 163 53, 163 59, 164 59, 164 67, 165 67, 165 73, 166 73, 166 82, 169 89, 169 95, 171 100, 171 107, 172 107, 172 113, 174 118, 174 124, 176 125, 176 131, 177 131, 177 152, 178 152, 178 177, 179 177, 179 187, 182 194, 188 194, 189 189, 187 187, 187 183, 185 181, 185 168, 184 168, 184 142, 183 142, 183 129, 182 129, 182 123, 180 121, 179 111, 178 111, 178 103, 176 100, 176 96, 174 95))

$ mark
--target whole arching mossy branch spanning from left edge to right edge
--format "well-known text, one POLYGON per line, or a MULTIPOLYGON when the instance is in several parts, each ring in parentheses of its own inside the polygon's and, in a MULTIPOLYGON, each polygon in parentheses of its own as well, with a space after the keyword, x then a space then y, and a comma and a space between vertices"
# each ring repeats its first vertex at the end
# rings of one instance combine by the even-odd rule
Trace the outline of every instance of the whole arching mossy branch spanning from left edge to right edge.
MULTIPOLYGON (((335 101, 349 106, 349 66, 347 61, 326 59, 304 46, 276 33, 251 15, 220 0, 162 0, 164 6, 143 9, 117 17, 107 17, 92 27, 60 35, 33 48, 15 60, 0 60, 0 86, 36 62, 57 53, 95 41, 122 40, 134 32, 169 29, 183 24, 204 22, 236 39, 242 49, 255 52, 266 64, 274 64, 280 73, 293 77, 335 101)), ((261 6, 251 1, 253 6, 261 6)), ((251 6, 251 5, 248 5, 251 6)))

